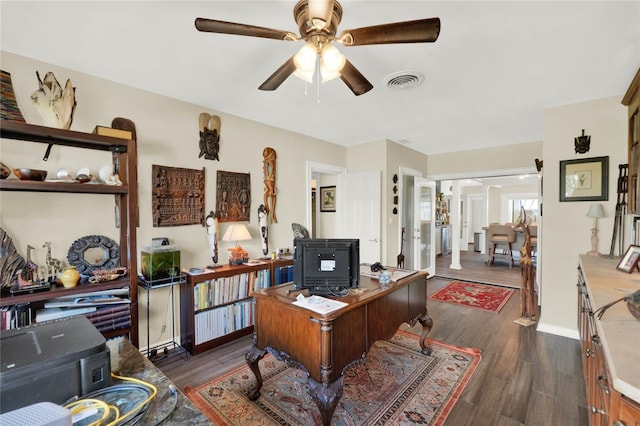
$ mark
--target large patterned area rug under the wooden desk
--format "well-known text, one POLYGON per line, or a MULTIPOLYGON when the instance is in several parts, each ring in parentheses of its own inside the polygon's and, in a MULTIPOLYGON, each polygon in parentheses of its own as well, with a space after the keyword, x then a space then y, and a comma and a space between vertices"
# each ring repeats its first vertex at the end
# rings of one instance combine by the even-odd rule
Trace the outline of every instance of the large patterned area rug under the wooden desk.
MULTIPOLYGON (((480 362, 477 349, 429 340, 431 355, 420 353, 418 336, 398 331, 374 343, 364 362, 345 372, 343 395, 332 425, 442 425, 480 362)), ((267 354, 260 360, 264 384, 257 401, 248 367, 210 383, 185 389, 187 397, 215 425, 316 425, 317 406, 307 376, 267 354)))

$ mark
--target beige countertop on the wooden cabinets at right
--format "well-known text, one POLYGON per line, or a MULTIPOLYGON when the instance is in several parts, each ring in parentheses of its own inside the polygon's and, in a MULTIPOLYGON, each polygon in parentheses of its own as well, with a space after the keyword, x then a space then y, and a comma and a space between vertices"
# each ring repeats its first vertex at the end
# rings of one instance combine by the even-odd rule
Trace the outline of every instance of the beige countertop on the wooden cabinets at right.
MULTIPOLYGON (((580 266, 591 300, 596 309, 626 294, 640 290, 640 273, 626 273, 616 268, 620 259, 580 255, 580 266)), ((619 302, 596 320, 596 328, 613 388, 640 403, 640 321, 625 302, 619 302)))

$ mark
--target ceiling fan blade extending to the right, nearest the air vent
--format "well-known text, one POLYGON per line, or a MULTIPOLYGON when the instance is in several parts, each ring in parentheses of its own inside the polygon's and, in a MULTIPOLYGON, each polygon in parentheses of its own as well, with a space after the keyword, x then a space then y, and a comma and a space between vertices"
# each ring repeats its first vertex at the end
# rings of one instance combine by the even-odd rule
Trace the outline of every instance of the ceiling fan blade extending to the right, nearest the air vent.
POLYGON ((346 30, 338 40, 345 46, 391 43, 429 43, 440 35, 440 18, 394 22, 346 30))

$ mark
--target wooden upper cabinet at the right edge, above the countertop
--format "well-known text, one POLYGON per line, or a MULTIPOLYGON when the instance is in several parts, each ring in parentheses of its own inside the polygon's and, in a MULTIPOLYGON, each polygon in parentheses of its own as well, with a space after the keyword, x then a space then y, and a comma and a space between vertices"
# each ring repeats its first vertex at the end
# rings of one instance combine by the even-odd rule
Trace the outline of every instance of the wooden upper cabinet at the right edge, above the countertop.
POLYGON ((629 212, 640 214, 640 69, 622 98, 622 104, 629 108, 629 212))

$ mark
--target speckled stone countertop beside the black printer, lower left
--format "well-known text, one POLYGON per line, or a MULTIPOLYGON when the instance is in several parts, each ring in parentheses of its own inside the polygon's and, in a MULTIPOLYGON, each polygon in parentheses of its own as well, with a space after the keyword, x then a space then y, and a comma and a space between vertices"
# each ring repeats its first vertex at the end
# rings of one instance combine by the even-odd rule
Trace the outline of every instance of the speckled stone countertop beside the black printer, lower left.
MULTIPOLYGON (((157 387, 153 405, 139 425, 151 426, 167 419, 162 425, 210 425, 211 422, 176 389, 173 383, 151 361, 145 358, 138 349, 128 340, 120 337, 107 340, 107 346, 111 351, 111 372, 118 376, 133 377, 149 382, 157 387), (174 390, 173 393, 171 390, 174 390), (174 404, 175 410, 173 410, 174 404)), ((113 379, 114 384, 117 383, 113 379)))

